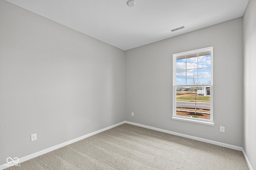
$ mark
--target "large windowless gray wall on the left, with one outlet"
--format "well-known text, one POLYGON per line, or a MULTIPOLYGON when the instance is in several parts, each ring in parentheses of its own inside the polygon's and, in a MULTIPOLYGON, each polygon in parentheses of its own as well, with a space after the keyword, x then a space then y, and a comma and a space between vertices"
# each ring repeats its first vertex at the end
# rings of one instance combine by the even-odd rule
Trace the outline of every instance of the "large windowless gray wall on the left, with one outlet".
POLYGON ((4 0, 0 24, 0 165, 125 120, 124 51, 4 0))

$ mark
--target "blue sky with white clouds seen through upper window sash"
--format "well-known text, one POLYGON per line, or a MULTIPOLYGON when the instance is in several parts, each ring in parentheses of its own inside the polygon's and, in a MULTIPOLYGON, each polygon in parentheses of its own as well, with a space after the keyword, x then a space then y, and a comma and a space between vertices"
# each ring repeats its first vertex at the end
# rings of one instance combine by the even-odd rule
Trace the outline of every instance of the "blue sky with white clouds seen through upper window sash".
POLYGON ((180 58, 176 58, 176 85, 193 84, 193 75, 198 84, 211 82, 211 55, 180 58))

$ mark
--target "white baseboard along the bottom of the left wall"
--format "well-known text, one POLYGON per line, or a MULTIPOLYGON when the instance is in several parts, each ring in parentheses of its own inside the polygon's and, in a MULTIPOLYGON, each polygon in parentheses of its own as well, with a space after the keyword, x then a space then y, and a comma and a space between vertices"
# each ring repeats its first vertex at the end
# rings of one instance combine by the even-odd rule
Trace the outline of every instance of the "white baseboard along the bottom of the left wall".
MULTIPOLYGON (((24 157, 22 157, 22 158, 19 158, 17 164, 20 164, 21 162, 24 162, 24 161, 26 161, 26 160, 30 160, 30 159, 35 158, 35 157, 37 157, 37 156, 40 156, 40 155, 42 155, 42 154, 46 154, 46 153, 48 153, 48 152, 50 152, 50 151, 52 151, 52 150, 59 149, 59 148, 61 148, 61 147, 64 147, 64 146, 66 146, 66 145, 69 145, 69 144, 71 144, 71 143, 80 141, 80 140, 85 139, 85 138, 87 138, 87 137, 90 137, 90 136, 92 136, 92 135, 96 135, 97 133, 106 131, 106 130, 108 130, 108 129, 111 129, 111 128, 116 127, 116 126, 119 126, 119 125, 122 125, 122 124, 124 124, 124 123, 125 123, 125 121, 120 122, 120 123, 117 123, 117 124, 112 125, 112 126, 109 126, 109 127, 106 127, 106 128, 104 128, 104 129, 100 129, 100 130, 95 131, 95 132, 92 132, 92 133, 89 133, 89 134, 87 134, 87 135, 78 137, 78 138, 76 138, 76 139, 72 139, 72 140, 70 140, 70 141, 61 143, 61 144, 59 144, 59 145, 50 147, 50 148, 48 148, 48 149, 41 150, 41 151, 39 151, 39 152, 30 154, 30 155, 28 155, 28 156, 24 156, 24 157)), ((8 164, 8 163, 6 163, 6 164, 8 164)), ((11 162, 10 164, 15 164, 15 163, 14 163, 14 162, 11 162)), ((9 167, 9 166, 6 166, 5 164, 2 164, 2 165, 0 165, 0 170, 3 170, 3 169, 8 168, 8 167, 9 167)))

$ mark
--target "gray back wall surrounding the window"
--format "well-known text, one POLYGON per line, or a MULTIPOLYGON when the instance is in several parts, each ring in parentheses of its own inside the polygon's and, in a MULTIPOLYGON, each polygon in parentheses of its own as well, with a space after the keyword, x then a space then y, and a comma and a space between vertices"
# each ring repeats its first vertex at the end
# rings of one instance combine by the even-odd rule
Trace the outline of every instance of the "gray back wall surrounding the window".
POLYGON ((126 121, 242 147, 242 71, 242 18, 125 51, 126 121), (211 46, 215 125, 171 119, 172 55, 211 46))

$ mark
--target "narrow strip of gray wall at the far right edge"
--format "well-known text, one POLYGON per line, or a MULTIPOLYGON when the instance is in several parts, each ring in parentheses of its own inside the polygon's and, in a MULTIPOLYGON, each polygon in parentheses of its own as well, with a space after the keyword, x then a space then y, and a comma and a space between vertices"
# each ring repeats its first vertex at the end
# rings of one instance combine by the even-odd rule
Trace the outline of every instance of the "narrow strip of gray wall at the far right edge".
POLYGON ((244 145, 252 168, 256 170, 256 0, 250 0, 243 18, 244 35, 244 145))

